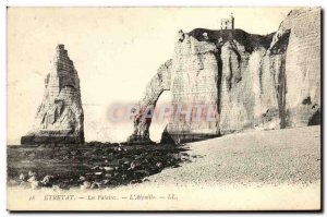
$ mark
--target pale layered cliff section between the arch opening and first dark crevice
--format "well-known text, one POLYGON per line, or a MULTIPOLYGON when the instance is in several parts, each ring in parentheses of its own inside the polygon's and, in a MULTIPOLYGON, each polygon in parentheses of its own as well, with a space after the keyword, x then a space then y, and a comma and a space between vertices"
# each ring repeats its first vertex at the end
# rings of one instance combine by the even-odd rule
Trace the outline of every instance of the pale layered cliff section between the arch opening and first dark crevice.
POLYGON ((173 113, 181 114, 170 121, 167 131, 172 136, 183 135, 185 140, 190 133, 193 137, 216 135, 219 122, 218 110, 213 110, 210 118, 214 121, 192 121, 194 117, 187 117, 187 111, 195 114, 196 106, 201 105, 205 108, 217 106, 217 47, 211 43, 196 40, 187 34, 181 32, 180 34, 172 59, 170 89, 172 105, 174 105, 173 113))

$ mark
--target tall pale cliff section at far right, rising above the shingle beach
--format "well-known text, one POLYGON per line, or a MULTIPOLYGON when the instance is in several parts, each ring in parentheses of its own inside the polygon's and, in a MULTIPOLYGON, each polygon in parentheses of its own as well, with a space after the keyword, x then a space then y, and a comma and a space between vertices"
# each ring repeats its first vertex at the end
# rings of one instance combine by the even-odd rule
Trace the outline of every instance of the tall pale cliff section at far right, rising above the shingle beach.
POLYGON ((287 124, 317 124, 320 120, 320 11, 292 11, 280 28, 291 32, 286 58, 287 124))

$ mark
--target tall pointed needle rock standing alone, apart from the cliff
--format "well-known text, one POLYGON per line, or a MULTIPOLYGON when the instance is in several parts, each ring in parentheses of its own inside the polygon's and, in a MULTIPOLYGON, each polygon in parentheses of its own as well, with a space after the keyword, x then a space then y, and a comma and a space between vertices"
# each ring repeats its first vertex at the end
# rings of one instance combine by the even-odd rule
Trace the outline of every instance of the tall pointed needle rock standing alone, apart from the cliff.
POLYGON ((21 143, 83 144, 83 122, 78 75, 64 46, 58 45, 53 68, 45 80, 45 95, 34 128, 22 136, 21 143))

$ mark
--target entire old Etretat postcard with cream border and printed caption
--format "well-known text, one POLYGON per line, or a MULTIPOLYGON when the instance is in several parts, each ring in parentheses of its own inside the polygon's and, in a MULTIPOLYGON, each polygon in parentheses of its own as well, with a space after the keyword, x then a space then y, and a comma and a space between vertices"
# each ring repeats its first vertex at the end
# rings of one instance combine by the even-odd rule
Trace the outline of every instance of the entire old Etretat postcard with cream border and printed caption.
POLYGON ((319 210, 320 8, 15 8, 9 210, 319 210))

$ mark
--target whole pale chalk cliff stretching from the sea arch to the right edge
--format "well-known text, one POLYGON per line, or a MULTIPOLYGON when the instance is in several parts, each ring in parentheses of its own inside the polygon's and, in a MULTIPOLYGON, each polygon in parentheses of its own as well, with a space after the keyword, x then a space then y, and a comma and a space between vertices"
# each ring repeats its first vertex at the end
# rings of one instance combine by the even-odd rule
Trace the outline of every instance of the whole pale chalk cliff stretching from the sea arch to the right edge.
MULTIPOLYGON (((211 105, 217 110, 209 122, 186 122, 183 116, 172 120, 165 136, 194 141, 319 124, 320 9, 291 11, 279 29, 266 36, 241 29, 180 31, 169 69, 165 89, 172 92, 173 105, 211 105)), ((142 105, 156 104, 162 88, 154 84, 142 105)), ((150 120, 141 124, 146 125, 145 140, 150 120)), ((137 121, 134 125, 140 130, 137 121)))

